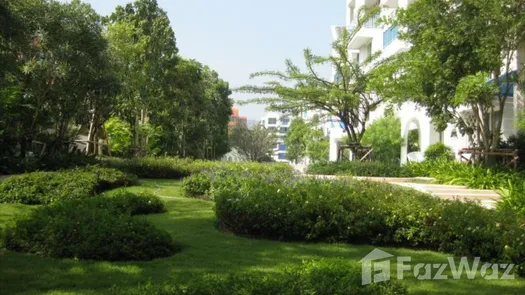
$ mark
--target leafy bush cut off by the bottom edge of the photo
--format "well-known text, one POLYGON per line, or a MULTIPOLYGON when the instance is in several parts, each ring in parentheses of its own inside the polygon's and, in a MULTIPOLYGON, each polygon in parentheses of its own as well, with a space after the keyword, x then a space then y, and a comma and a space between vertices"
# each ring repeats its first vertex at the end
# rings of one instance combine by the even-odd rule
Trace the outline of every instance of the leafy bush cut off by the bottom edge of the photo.
POLYGON ((186 285, 145 285, 135 289, 113 288, 114 295, 402 295, 407 290, 397 281, 362 285, 361 268, 343 260, 309 261, 276 274, 242 274, 227 277, 205 276, 186 285))

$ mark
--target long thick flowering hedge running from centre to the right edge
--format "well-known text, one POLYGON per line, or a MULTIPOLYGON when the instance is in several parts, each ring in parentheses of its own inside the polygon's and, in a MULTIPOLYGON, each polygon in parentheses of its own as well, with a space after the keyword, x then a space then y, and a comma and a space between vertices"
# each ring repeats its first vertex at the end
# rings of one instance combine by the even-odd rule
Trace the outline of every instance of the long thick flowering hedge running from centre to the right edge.
POLYGON ((239 235, 426 248, 525 274, 525 220, 508 211, 386 183, 260 175, 217 179, 213 197, 219 226, 239 235))

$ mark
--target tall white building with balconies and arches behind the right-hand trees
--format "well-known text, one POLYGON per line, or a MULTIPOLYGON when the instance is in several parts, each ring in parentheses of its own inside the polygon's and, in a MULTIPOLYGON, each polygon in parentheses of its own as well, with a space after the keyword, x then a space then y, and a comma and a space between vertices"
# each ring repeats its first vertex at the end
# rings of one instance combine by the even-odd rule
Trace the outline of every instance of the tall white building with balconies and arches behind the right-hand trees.
MULTIPOLYGON (((393 16, 393 13, 398 8, 406 8, 414 0, 347 0, 346 3, 346 25, 332 26, 332 37, 336 40, 339 37, 341 30, 352 30, 355 27, 358 11, 364 5, 370 7, 380 5, 382 7, 380 15, 393 16)), ((371 54, 381 52, 379 59, 387 58, 396 53, 407 51, 410 44, 407 44, 397 38, 399 28, 395 26, 388 26, 378 24, 376 18, 369 20, 350 40, 350 51, 353 58, 358 62, 365 60, 371 54)), ((518 70, 520 65, 525 62, 525 50, 520 50, 515 55, 516 58, 512 62, 512 70, 518 70)), ((366 69, 365 69, 366 70, 366 69)), ((335 76, 334 76, 335 77, 335 76)), ((519 91, 515 89, 512 91, 512 98, 507 100, 507 105, 503 113, 502 134, 506 139, 516 132, 516 118, 521 109, 523 98, 519 91)), ((496 108, 497 109, 497 108, 496 108)), ((384 107, 378 108, 370 116, 369 123, 380 118, 383 115, 384 107)), ((465 109, 465 112, 470 110, 465 109)), ((401 119, 401 135, 405 139, 405 145, 401 150, 401 162, 405 163, 407 160, 407 137, 412 129, 419 129, 419 146, 422 152, 431 144, 443 142, 452 147, 455 154, 462 149, 470 146, 468 138, 463 137, 455 130, 455 127, 450 125, 445 131, 438 132, 432 124, 431 119, 426 115, 423 108, 418 108, 414 103, 405 103, 397 110, 397 115, 401 119)), ((338 146, 344 139, 345 134, 342 128, 333 128, 330 130, 330 160, 337 160, 338 146)))

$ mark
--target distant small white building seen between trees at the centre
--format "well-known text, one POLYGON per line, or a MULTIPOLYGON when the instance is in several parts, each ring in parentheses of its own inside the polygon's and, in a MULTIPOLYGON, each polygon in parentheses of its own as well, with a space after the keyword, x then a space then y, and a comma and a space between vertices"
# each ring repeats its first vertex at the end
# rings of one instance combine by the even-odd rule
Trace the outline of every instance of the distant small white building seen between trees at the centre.
POLYGON ((286 145, 284 138, 290 128, 290 116, 282 113, 268 113, 261 119, 261 124, 267 129, 273 131, 277 136, 277 144, 274 149, 272 158, 276 162, 289 162, 286 159, 286 145))

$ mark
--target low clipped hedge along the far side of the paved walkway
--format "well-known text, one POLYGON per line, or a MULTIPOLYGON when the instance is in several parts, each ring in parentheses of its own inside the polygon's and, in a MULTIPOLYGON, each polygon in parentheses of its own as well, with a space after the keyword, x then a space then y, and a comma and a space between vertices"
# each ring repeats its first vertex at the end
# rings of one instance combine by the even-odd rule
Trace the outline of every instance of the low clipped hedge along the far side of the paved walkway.
POLYGON ((320 175, 345 174, 353 176, 410 177, 412 173, 399 163, 341 161, 316 163, 308 166, 308 173, 320 175))

